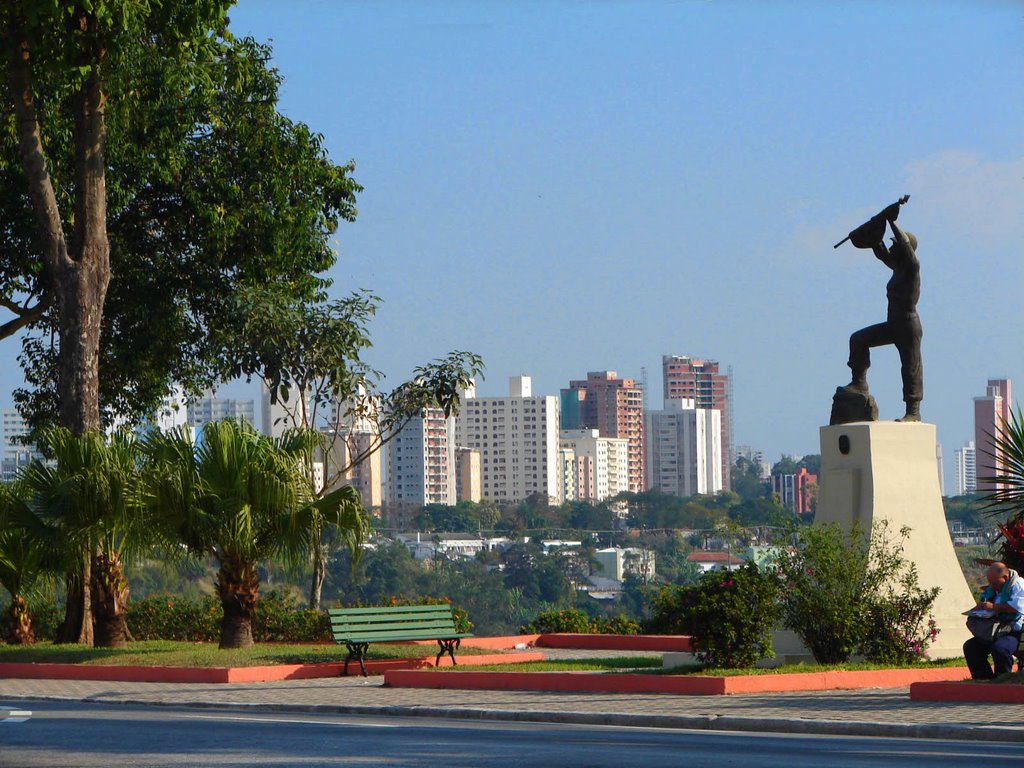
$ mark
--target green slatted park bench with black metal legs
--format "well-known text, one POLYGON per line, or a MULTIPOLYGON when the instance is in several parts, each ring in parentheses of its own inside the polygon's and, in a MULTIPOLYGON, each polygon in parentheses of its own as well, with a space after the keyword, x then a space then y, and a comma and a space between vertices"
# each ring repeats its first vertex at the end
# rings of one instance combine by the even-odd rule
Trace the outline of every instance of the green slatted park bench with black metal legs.
POLYGON ((367 648, 372 642, 400 642, 402 640, 436 640, 440 646, 434 665, 440 664, 447 653, 455 660, 455 649, 469 633, 455 628, 451 605, 397 605, 375 608, 330 608, 331 634, 338 644, 348 648, 345 674, 353 658, 359 663, 362 676, 367 648))

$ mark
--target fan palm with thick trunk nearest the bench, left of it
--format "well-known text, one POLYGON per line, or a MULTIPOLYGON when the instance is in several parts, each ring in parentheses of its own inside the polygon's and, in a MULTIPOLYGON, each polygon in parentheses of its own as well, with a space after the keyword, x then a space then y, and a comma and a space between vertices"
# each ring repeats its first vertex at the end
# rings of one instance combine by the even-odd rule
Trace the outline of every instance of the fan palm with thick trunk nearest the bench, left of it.
POLYGON ((145 441, 148 504, 168 548, 183 545, 219 566, 221 648, 253 645, 261 560, 303 562, 324 524, 337 525, 354 555, 369 531, 354 488, 310 498, 300 443, 274 442, 233 420, 208 423, 198 444, 186 431, 155 433, 145 441))

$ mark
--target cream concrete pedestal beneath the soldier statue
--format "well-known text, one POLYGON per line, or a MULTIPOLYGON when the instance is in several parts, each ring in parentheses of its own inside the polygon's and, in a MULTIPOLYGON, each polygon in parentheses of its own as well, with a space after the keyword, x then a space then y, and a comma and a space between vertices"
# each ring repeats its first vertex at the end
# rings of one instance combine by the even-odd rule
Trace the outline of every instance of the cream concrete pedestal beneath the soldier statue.
POLYGON ((963 611, 976 602, 964 579, 942 511, 935 463, 935 425, 892 421, 821 427, 821 473, 816 522, 868 529, 888 520, 908 526, 903 556, 918 566, 924 588, 941 592, 932 612, 939 636, 933 658, 963 655, 970 637, 963 611))

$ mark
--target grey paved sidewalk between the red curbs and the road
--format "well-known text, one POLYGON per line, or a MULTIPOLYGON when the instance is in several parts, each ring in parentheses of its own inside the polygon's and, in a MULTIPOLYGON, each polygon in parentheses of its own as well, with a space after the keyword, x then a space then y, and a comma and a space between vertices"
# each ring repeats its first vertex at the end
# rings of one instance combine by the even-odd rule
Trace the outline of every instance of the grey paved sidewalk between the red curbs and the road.
POLYGON ((381 683, 379 677, 220 685, 3 679, 0 700, 1024 741, 1024 708, 910 701, 906 688, 673 696, 402 689, 381 683))

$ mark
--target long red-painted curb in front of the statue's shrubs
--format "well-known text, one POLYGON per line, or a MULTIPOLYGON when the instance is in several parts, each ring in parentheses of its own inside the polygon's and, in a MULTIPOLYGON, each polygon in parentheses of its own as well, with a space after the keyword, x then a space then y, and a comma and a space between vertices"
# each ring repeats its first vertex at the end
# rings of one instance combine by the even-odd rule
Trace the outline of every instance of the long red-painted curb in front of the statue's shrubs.
POLYGON ((609 675, 588 672, 411 672, 384 673, 384 684, 403 688, 462 688, 602 693, 673 693, 706 696, 737 693, 856 688, 900 688, 928 680, 963 680, 966 668, 806 672, 782 675, 609 675))

